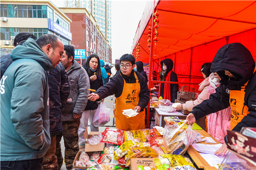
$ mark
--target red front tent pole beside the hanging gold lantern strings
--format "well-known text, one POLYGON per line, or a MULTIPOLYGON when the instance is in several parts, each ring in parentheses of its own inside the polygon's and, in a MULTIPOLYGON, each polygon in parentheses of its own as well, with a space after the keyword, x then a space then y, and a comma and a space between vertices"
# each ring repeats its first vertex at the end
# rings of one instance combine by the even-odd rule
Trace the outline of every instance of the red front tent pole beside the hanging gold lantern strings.
MULTIPOLYGON (((155 0, 154 0, 154 6, 155 6, 155 0)), ((156 8, 156 7, 155 7, 156 8)), ((149 53, 149 74, 148 74, 148 88, 151 89, 151 82, 152 82, 152 63, 153 63, 153 53, 154 53, 154 41, 153 41, 153 24, 154 24, 154 13, 155 9, 152 13, 152 25, 151 25, 151 43, 150 43, 150 53, 149 53)), ((147 128, 149 128, 149 111, 150 111, 150 101, 148 102, 148 109, 147 109, 147 128)))

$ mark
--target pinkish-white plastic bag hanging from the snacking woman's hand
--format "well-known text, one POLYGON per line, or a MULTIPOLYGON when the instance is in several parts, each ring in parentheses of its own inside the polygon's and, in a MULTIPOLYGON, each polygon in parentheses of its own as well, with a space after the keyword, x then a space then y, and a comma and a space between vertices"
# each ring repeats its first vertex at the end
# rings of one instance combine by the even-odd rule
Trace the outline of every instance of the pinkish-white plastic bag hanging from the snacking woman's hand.
POLYGON ((94 115, 93 124, 94 126, 102 126, 109 122, 110 108, 108 108, 104 101, 98 106, 96 113, 94 115))

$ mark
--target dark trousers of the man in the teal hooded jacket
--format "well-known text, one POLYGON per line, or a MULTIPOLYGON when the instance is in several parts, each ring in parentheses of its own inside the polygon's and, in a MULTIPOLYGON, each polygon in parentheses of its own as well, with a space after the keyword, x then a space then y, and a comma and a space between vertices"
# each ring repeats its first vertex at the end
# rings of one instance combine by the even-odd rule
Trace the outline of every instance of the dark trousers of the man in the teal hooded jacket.
POLYGON ((42 170, 42 160, 1 161, 1 170, 42 170))

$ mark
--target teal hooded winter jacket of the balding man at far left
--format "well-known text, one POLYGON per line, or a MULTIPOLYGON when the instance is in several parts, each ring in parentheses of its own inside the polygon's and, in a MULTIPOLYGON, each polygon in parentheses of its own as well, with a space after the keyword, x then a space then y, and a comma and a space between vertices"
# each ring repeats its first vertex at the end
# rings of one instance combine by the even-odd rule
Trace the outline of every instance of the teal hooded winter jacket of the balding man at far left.
POLYGON ((49 88, 45 70, 54 66, 32 38, 16 46, 1 79, 1 161, 37 159, 51 143, 49 88))

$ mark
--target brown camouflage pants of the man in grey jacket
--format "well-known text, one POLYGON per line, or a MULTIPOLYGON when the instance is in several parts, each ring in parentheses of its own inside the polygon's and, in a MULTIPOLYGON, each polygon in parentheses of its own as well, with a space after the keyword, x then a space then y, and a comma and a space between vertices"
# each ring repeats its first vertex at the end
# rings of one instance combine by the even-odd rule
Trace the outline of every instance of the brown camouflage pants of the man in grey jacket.
POLYGON ((63 136, 64 145, 65 145, 65 164, 67 170, 72 169, 72 164, 74 162, 74 158, 79 151, 78 145, 78 127, 80 125, 80 120, 75 121, 63 121, 62 134, 57 135, 56 137, 56 153, 58 159, 59 170, 63 164, 63 157, 61 155, 61 137, 63 136))

